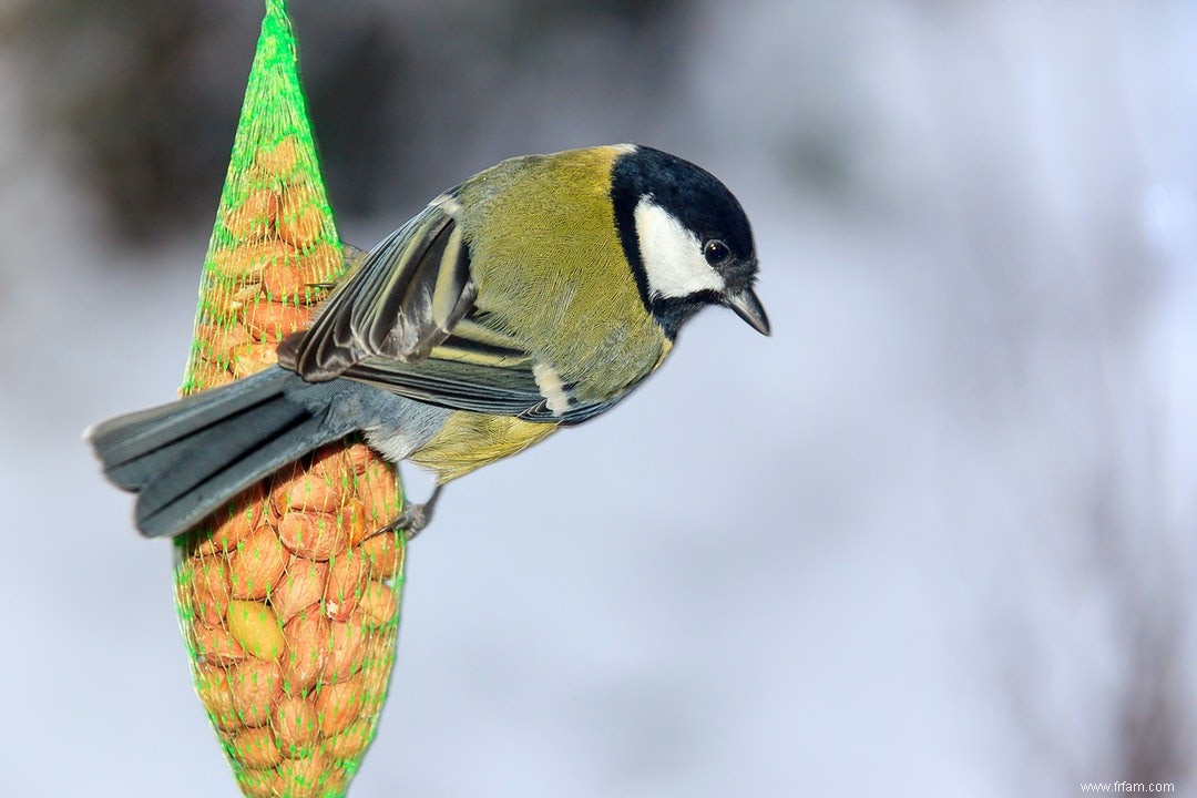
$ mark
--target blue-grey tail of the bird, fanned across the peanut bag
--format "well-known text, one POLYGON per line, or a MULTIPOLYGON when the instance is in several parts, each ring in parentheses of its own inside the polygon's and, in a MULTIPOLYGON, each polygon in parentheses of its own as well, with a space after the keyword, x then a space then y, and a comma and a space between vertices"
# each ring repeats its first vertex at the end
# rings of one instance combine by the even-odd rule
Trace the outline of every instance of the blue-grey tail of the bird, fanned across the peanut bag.
POLYGON ((326 424, 329 384, 279 367, 85 433, 142 535, 174 537, 259 480, 352 430, 326 424), (303 401, 296 401, 298 395, 303 401))

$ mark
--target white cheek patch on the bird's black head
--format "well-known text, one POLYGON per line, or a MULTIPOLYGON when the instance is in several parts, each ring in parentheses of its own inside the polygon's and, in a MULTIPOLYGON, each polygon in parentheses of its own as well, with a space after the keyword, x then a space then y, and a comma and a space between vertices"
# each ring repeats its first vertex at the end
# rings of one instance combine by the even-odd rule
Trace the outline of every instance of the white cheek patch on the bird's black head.
POLYGON ((639 201, 634 217, 650 297, 688 297, 727 287, 703 256, 703 242, 651 199, 639 201))

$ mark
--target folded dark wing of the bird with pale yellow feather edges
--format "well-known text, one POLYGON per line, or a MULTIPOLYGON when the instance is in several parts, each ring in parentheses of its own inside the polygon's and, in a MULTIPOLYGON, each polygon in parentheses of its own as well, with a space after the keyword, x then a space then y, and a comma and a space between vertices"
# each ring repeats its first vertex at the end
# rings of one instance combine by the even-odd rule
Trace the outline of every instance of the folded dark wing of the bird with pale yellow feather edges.
POLYGON ((450 409, 537 422, 577 424, 614 404, 619 397, 579 402, 557 383, 549 409, 535 355, 479 316, 452 205, 429 205, 365 255, 312 325, 282 341, 279 364, 310 382, 344 377, 450 409))

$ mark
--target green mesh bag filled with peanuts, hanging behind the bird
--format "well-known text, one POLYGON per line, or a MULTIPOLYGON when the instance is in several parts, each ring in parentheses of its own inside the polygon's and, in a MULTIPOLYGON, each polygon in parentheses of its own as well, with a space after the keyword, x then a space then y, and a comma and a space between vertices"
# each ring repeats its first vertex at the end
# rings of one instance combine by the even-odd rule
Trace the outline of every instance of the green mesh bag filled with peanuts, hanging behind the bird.
MULTIPOLYGON (((275 361, 345 269, 282 0, 268 0, 203 262, 183 395, 275 361)), ((245 796, 344 796, 395 660, 395 469, 326 446, 182 536, 178 617, 195 688, 245 796)))

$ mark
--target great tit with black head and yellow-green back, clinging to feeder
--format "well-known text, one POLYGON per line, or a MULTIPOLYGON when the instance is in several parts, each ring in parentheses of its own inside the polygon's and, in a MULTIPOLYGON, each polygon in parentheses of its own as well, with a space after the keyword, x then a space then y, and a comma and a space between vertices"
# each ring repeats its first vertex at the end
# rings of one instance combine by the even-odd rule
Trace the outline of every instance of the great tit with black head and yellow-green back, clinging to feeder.
MULTIPOLYGON (((356 433, 433 471, 435 499, 616 404, 707 305, 767 335, 755 279, 743 209, 694 164, 637 145, 514 158, 375 246, 277 366, 86 437, 151 537, 356 433)), ((413 535, 430 510, 389 526, 413 535)))

